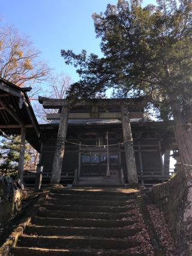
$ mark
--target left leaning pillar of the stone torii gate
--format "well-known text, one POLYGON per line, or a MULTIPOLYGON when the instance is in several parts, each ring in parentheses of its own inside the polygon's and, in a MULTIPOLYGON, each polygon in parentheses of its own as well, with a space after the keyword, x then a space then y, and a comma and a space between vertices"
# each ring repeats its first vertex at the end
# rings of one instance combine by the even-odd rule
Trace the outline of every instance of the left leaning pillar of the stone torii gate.
POLYGON ((67 135, 67 118, 68 118, 68 108, 67 106, 62 106, 61 118, 59 123, 58 138, 56 140, 56 150, 53 159, 52 166, 52 177, 50 182, 59 184, 61 179, 62 162, 64 158, 65 150, 65 139, 67 135))

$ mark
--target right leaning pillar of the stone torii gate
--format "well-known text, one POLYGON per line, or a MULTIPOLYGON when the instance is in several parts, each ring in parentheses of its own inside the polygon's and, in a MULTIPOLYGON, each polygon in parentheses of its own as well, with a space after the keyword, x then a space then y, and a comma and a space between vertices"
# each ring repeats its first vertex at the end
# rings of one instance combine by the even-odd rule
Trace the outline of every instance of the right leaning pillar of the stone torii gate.
POLYGON ((122 132, 124 135, 125 159, 127 164, 128 183, 138 183, 136 159, 134 157, 133 138, 127 106, 121 106, 122 132))

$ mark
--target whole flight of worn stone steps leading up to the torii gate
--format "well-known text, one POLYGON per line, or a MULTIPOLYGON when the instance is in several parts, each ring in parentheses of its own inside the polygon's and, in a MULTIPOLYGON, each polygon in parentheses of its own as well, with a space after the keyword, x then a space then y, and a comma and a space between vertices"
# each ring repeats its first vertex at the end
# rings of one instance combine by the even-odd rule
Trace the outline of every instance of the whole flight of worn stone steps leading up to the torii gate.
POLYGON ((151 255, 134 193, 119 190, 53 188, 11 255, 151 255))

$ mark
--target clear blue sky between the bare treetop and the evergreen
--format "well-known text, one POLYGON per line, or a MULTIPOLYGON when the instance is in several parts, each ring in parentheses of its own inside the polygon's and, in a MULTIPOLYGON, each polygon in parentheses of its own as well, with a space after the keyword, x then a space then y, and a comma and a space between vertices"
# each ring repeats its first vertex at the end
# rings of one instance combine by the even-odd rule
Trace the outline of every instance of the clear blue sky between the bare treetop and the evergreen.
MULTIPOLYGON (((0 0, 0 17, 4 25, 14 25, 21 34, 29 35, 41 58, 56 73, 78 80, 76 70, 64 64, 61 49, 100 55, 100 40, 95 38, 91 14, 106 10, 117 0, 0 0)), ((143 1, 143 5, 154 0, 143 1)))

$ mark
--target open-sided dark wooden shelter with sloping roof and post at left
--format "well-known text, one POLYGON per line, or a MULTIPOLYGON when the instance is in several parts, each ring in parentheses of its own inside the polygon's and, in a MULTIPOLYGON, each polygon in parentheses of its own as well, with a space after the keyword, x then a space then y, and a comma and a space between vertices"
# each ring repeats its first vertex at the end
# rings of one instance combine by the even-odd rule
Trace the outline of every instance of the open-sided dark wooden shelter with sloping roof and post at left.
POLYGON ((29 102, 27 92, 31 88, 17 87, 0 78, 0 135, 21 135, 19 175, 23 181, 25 140, 40 151, 40 127, 29 102))

